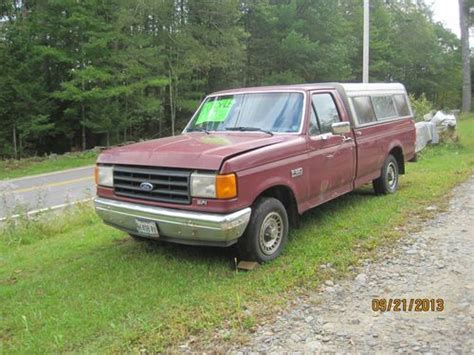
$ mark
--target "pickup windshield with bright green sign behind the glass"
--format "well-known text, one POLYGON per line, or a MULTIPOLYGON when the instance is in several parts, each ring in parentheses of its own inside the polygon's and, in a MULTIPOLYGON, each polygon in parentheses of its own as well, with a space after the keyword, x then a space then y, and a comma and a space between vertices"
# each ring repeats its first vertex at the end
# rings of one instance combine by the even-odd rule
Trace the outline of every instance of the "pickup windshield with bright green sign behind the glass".
POLYGON ((303 94, 271 92, 208 97, 187 131, 298 132, 303 94))

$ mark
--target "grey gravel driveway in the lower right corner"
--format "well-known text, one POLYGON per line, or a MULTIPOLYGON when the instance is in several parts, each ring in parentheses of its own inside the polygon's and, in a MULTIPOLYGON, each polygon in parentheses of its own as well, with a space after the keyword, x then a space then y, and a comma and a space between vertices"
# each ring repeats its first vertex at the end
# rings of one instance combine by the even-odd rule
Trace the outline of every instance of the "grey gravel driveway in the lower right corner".
MULTIPOLYGON (((474 353, 474 178, 422 230, 353 277, 328 280, 231 353, 474 353), (442 312, 374 312, 373 298, 444 299, 442 312)), ((436 210, 435 206, 428 210, 436 210)), ((329 266, 322 266, 330 267, 329 266)))

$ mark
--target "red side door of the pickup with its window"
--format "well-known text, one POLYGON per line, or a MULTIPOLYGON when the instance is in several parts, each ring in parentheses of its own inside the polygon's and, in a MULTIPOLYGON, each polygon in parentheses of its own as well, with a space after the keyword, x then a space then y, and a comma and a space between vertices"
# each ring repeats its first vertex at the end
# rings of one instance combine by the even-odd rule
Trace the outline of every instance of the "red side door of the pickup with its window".
MULTIPOLYGON (((343 113, 346 115, 346 113, 343 113)), ((347 120, 347 117, 344 117, 347 120)), ((316 206, 349 192, 355 173, 355 143, 352 131, 345 135, 332 133, 331 125, 342 122, 334 93, 311 94, 310 200, 316 206)))

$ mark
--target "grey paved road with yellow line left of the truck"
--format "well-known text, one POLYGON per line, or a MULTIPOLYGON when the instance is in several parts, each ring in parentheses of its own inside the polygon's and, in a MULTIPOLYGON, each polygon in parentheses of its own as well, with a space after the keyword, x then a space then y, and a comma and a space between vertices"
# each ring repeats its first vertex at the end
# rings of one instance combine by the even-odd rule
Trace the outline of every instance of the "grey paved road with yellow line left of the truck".
POLYGON ((94 196, 93 167, 0 181, 0 221, 18 213, 60 208, 94 196))

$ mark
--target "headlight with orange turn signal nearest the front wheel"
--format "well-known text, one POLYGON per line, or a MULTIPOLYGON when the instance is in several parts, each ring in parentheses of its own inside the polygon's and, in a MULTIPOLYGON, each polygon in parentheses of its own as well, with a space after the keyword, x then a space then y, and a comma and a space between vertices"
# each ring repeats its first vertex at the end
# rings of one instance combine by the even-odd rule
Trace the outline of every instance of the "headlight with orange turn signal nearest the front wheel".
POLYGON ((237 196, 235 174, 191 174, 191 196, 229 199, 237 196))

